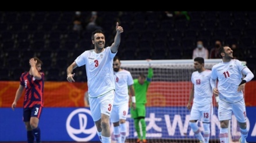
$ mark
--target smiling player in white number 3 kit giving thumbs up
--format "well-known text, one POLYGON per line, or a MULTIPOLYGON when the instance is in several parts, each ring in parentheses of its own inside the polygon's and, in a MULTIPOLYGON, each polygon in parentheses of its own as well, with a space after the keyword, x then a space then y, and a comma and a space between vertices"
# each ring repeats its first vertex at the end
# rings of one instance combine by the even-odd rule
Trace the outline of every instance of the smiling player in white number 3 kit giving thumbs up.
POLYGON ((109 116, 115 97, 113 76, 113 58, 118 52, 123 28, 116 23, 116 35, 111 46, 105 47, 105 35, 102 30, 95 30, 91 35, 94 49, 86 50, 67 68, 67 81, 74 82, 73 69, 86 65, 88 78, 88 97, 91 116, 97 127, 101 142, 111 142, 109 116))

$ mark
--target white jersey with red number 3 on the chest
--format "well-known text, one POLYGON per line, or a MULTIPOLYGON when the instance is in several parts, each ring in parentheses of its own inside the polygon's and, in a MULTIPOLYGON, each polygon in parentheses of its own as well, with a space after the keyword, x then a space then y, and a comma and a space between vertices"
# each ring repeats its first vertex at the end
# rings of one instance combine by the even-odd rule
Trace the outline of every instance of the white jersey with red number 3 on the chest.
POLYGON ((113 57, 116 53, 112 53, 110 47, 106 47, 101 53, 86 50, 74 60, 78 67, 86 65, 89 97, 102 96, 102 94, 115 90, 113 57))

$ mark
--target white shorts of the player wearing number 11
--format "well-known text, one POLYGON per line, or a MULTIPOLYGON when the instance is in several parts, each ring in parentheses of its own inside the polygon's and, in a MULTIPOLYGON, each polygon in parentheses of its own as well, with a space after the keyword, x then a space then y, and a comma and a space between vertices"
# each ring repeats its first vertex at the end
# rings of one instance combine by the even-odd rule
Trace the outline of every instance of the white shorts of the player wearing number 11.
POLYGON ((238 122, 246 122, 246 104, 244 103, 244 98, 235 103, 219 100, 218 118, 220 121, 230 120, 232 112, 234 113, 234 116, 236 116, 238 122))

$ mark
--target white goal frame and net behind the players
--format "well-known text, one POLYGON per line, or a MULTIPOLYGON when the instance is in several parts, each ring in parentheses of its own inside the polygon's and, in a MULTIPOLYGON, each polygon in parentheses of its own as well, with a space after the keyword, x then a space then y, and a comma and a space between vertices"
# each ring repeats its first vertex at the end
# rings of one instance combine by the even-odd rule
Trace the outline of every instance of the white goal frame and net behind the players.
MULTIPOLYGON (((207 59, 205 60, 205 68, 211 69, 220 61, 222 60, 207 59)), ((146 138, 148 142, 198 142, 189 126, 190 111, 186 108, 192 87, 193 64, 193 60, 121 60, 121 67, 130 71, 133 79, 138 78, 141 72, 147 75, 149 65, 154 69, 154 76, 147 92, 146 104, 145 121, 147 123, 146 138)), ((219 142, 220 124, 214 97, 213 104, 214 116, 212 116, 210 124, 210 142, 219 142)), ((237 141, 240 132, 236 119, 232 118, 230 123, 230 129, 234 132, 234 135, 230 135, 232 136, 230 142, 237 141)), ((137 133, 134 129, 133 119, 130 118, 130 111, 126 124, 127 140, 136 142, 137 133)), ((201 122, 198 122, 198 126, 200 126, 201 131, 204 130, 201 122)))

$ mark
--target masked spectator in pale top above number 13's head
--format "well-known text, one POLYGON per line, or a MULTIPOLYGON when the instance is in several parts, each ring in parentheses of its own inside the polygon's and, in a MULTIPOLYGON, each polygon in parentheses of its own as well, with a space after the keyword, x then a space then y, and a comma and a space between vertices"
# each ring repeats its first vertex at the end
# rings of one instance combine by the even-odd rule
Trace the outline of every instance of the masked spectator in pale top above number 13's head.
POLYGON ((193 50, 192 59, 195 57, 202 57, 204 59, 208 59, 209 51, 204 47, 204 43, 202 41, 197 41, 197 47, 193 50))

